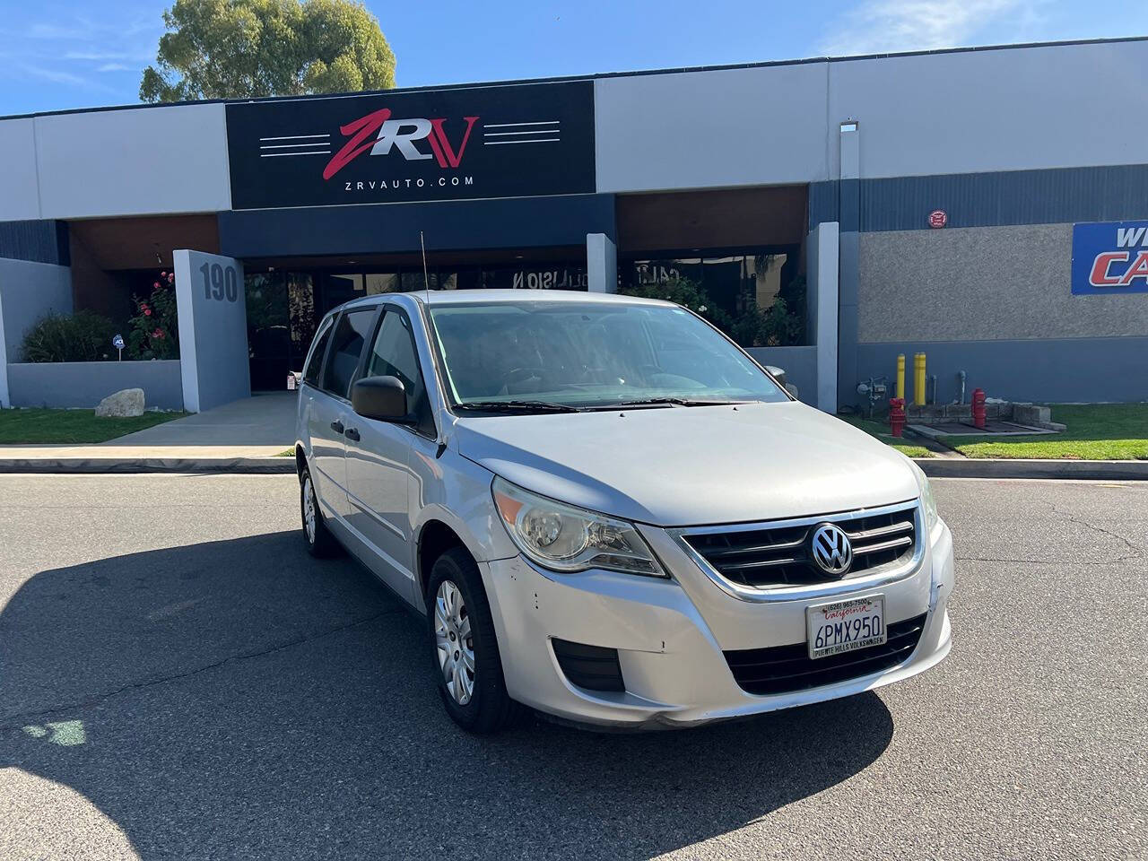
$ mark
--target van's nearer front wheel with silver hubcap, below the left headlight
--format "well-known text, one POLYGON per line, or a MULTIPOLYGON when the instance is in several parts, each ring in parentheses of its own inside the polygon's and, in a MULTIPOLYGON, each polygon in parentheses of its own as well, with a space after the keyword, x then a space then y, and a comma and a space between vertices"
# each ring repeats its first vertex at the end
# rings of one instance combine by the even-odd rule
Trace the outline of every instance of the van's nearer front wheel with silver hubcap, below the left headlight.
POLYGON ((435 560, 426 605, 432 668, 447 714, 476 735, 513 723, 521 707, 506 693, 482 574, 464 549, 435 560))

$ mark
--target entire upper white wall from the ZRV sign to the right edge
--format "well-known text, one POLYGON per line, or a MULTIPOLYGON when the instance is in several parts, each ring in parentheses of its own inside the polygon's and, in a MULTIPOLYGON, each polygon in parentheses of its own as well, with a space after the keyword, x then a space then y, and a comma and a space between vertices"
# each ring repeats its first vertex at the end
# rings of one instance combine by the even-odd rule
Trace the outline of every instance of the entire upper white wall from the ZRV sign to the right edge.
POLYGON ((595 82, 599 192, 1148 162, 1148 41, 595 82))

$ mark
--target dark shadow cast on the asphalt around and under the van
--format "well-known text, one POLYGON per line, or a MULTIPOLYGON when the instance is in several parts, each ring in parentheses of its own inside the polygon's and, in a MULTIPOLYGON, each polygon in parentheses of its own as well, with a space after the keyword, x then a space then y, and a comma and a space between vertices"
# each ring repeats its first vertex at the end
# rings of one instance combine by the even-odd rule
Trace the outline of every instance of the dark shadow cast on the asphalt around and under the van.
POLYGON ((0 768, 80 793, 145 859, 645 859, 833 786, 892 738, 872 692, 693 730, 468 736, 421 621, 300 542, 30 579, 0 613, 0 768))

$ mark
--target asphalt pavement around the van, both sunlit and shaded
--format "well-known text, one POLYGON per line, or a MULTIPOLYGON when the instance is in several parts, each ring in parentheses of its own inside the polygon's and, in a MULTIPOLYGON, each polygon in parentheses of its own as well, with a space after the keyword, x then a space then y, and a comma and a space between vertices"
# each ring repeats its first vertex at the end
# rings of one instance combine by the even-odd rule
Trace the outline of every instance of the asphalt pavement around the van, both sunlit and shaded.
POLYGON ((1148 486, 934 486, 931 673, 482 739, 293 476, 0 476, 0 858, 1143 858, 1148 486))

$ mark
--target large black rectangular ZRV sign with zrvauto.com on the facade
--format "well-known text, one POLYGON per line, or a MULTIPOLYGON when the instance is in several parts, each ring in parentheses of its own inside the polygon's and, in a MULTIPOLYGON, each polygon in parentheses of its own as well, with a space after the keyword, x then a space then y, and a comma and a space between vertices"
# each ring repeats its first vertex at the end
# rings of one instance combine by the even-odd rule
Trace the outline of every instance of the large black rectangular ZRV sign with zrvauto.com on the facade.
POLYGON ((594 85, 227 106, 233 209, 595 191, 594 85))

